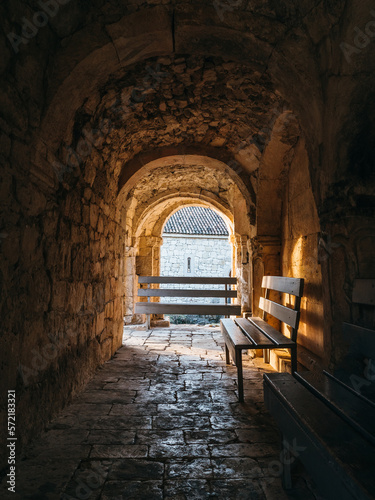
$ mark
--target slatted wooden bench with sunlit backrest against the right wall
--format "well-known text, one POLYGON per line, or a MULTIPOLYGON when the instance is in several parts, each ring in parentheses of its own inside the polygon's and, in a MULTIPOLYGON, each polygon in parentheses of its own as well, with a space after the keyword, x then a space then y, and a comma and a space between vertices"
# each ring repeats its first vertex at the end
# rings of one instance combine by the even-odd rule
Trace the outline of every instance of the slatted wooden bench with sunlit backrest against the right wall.
POLYGON ((265 296, 260 298, 259 308, 263 317, 237 318, 221 320, 221 333, 225 341, 225 357, 230 363, 229 355, 237 367, 238 399, 243 402, 243 372, 242 351, 248 349, 263 349, 265 362, 269 361, 270 349, 287 348, 291 352, 292 373, 297 371, 297 332, 300 317, 300 303, 303 294, 304 280, 299 278, 283 278, 279 276, 264 276, 262 288, 265 296), (293 295, 293 308, 286 307, 270 300, 270 292, 293 295), (286 337, 269 325, 265 320, 267 314, 277 318, 291 327, 291 336, 286 337))

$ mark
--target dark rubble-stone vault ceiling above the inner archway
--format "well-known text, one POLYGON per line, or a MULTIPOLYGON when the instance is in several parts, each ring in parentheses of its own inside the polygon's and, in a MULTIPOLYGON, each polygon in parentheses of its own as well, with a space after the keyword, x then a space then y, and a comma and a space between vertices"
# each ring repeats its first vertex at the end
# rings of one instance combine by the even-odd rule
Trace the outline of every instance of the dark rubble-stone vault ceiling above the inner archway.
POLYGON ((160 57, 112 75, 77 112, 76 128, 89 122, 105 131, 101 124, 108 120, 107 159, 114 150, 127 161, 150 147, 182 142, 236 152, 243 141, 264 144, 268 138, 257 134, 272 129, 283 106, 269 77, 246 66, 214 57, 160 57))

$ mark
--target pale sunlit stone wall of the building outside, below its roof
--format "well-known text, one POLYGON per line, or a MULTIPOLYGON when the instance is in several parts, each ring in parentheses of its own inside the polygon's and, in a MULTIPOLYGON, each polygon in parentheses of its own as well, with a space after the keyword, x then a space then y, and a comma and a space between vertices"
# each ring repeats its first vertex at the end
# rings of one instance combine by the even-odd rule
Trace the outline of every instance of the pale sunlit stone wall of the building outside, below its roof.
MULTIPOLYGON (((161 247, 161 276, 229 276, 232 270, 232 247, 228 237, 163 235, 161 247), (187 272, 187 259, 191 258, 191 273, 187 272)), ((161 288, 176 285, 161 285, 161 288)), ((184 288, 213 289, 220 285, 184 285, 184 288)), ((222 287, 221 287, 222 288, 222 287)), ((163 297, 163 302, 220 303, 224 299, 209 297, 163 297)))

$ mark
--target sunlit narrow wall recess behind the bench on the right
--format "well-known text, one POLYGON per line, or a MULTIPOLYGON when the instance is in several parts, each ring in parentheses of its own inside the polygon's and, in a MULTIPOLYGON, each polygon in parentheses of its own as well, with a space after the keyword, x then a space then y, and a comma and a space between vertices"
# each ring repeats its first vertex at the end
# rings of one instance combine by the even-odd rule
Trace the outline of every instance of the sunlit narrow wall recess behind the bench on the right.
POLYGON ((308 170, 304 141, 294 151, 284 188, 281 270, 283 276, 304 278, 298 343, 299 358, 307 367, 318 358, 327 365, 324 344, 322 273, 318 261, 320 225, 308 170), (312 353, 312 358, 311 357, 312 353), (323 361, 322 361, 323 360, 323 361))

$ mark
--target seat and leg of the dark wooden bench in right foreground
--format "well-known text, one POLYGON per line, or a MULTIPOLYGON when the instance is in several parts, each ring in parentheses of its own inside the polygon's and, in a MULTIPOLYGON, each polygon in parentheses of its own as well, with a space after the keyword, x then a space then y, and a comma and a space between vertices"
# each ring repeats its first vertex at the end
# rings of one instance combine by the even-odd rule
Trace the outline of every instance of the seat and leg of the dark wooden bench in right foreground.
POLYGON ((374 498, 375 404, 327 372, 263 379, 266 407, 282 434, 284 488, 292 486, 297 458, 323 498, 374 498))

